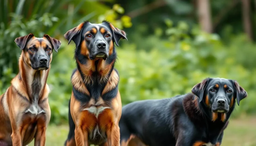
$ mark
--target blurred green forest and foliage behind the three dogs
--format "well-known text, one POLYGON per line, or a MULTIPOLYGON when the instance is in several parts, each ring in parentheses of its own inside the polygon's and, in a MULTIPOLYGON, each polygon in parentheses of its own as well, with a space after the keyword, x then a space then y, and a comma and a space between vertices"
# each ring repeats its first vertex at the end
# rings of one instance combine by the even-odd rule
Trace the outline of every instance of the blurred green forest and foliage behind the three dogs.
POLYGON ((123 105, 223 77, 248 92, 232 117, 256 114, 256 0, 0 0, 0 93, 18 73, 15 38, 55 37, 62 45, 47 80, 51 123, 66 124, 75 45, 63 35, 84 20, 104 19, 128 37, 117 47, 123 105))

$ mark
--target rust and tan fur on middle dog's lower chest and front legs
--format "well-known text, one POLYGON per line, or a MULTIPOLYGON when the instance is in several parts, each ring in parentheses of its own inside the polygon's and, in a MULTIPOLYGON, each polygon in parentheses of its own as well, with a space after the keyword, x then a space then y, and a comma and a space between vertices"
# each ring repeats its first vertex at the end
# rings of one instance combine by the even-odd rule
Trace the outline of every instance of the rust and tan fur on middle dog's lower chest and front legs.
MULTIPOLYGON (((91 101, 93 102, 93 101, 91 101)), ((90 105, 88 105, 89 107, 90 105)), ((72 119, 76 124, 75 128, 75 141, 77 146, 89 146, 88 141, 89 133, 94 130, 96 125, 107 134, 107 144, 109 146, 120 145, 120 132, 118 122, 121 118, 122 103, 120 93, 112 100, 113 108, 105 109, 98 118, 89 113, 87 110, 80 110, 80 102, 77 101, 72 93, 70 109, 72 119)), ((86 108, 86 107, 83 107, 86 108)), ((72 143, 67 143, 73 146, 72 143)), ((106 145, 106 144, 105 144, 106 145)))

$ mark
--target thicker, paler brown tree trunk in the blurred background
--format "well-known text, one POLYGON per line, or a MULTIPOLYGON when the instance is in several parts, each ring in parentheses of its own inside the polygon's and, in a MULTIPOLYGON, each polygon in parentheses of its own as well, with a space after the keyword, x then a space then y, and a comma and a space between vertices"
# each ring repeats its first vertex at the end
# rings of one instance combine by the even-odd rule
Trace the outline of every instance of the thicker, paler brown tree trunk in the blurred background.
POLYGON ((198 19, 201 29, 212 32, 211 8, 209 0, 197 0, 198 19))

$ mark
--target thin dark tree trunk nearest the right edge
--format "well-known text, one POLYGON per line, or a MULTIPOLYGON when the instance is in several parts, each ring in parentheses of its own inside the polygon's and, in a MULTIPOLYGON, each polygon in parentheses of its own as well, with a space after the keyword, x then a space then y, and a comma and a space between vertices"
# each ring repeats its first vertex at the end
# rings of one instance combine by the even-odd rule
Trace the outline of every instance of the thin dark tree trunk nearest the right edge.
POLYGON ((244 31, 248 38, 252 40, 252 27, 250 20, 250 0, 242 0, 244 31))

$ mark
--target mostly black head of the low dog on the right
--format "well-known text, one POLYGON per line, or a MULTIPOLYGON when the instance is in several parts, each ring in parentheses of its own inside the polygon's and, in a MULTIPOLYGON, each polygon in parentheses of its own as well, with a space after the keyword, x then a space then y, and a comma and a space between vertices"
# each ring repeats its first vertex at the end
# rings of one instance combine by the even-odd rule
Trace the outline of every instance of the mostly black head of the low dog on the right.
POLYGON ((239 105, 247 96, 247 92, 237 81, 225 78, 206 78, 193 87, 192 93, 215 113, 228 112, 233 107, 235 99, 239 105))

